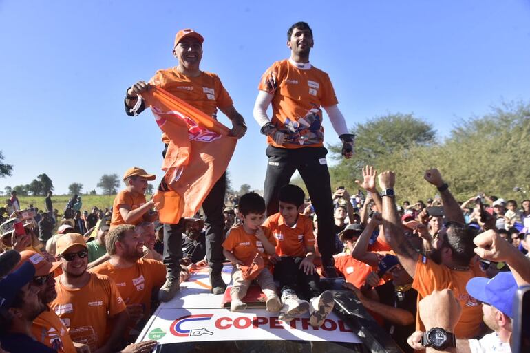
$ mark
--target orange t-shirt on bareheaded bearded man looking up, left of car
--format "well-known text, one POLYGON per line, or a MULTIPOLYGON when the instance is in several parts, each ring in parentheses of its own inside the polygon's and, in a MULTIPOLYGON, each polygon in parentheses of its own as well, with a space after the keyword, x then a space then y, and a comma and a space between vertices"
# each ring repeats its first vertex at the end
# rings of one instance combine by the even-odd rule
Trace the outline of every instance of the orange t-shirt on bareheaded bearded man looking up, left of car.
POLYGON ((160 261, 139 259, 129 268, 115 268, 109 261, 103 262, 90 272, 114 279, 125 304, 142 304, 144 317, 151 315, 151 292, 166 281, 166 266, 160 261))

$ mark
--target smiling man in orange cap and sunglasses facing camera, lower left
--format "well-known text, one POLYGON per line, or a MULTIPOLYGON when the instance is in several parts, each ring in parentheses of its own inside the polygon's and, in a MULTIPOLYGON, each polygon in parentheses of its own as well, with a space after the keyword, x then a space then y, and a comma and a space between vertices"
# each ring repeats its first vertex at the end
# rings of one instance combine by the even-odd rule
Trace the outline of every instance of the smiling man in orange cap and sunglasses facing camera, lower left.
POLYGON ((116 352, 127 323, 116 284, 107 276, 87 272, 88 250, 81 234, 60 237, 56 259, 63 274, 55 281, 57 297, 50 308, 65 323, 72 341, 88 345, 90 352, 116 352))

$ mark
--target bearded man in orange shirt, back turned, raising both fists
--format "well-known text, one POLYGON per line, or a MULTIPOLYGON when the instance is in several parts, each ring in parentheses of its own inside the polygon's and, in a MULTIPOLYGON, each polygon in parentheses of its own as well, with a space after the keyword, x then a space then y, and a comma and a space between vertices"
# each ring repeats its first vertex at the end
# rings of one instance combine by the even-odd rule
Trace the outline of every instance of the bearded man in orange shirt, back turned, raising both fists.
MULTIPOLYGON (((441 193, 445 215, 449 222, 441 228, 434 239, 430 259, 418 255, 412 244, 407 242, 403 225, 394 202, 396 175, 392 171, 379 174, 381 197, 383 197, 383 229, 388 243, 399 258, 408 274, 414 278, 412 288, 418 291, 418 301, 434 290, 451 289, 462 306, 462 317, 456 325, 456 336, 471 339, 480 333, 482 311, 480 304, 471 297, 465 284, 473 277, 483 277, 478 266, 470 266, 475 256, 473 238, 476 232, 466 228, 460 206, 443 181, 438 169, 425 172, 425 180, 436 186, 441 193)), ((416 315, 416 329, 422 323, 416 315)))

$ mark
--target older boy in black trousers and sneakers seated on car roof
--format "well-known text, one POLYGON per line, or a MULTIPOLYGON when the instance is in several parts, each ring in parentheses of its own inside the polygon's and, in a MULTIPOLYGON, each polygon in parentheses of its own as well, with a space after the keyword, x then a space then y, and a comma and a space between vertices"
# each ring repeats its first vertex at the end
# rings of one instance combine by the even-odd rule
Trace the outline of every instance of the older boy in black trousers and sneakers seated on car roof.
POLYGON ((335 302, 332 292, 321 292, 315 259, 315 234, 310 218, 304 211, 304 191, 295 185, 279 190, 279 213, 271 215, 264 226, 271 228, 277 239, 276 254, 271 257, 274 277, 282 293, 282 312, 279 319, 290 321, 309 310, 309 323, 320 327, 335 302), (310 299, 299 299, 301 296, 310 299))

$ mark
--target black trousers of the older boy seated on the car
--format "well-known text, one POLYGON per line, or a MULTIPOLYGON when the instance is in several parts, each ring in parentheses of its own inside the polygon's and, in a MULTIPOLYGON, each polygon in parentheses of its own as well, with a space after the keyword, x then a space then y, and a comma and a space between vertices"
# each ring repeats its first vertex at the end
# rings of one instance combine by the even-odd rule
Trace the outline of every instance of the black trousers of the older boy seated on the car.
POLYGON ((319 288, 319 275, 306 275, 299 268, 301 257, 281 257, 274 265, 274 279, 279 281, 280 293, 284 290, 294 290, 299 298, 309 300, 318 297, 321 293, 319 288))

